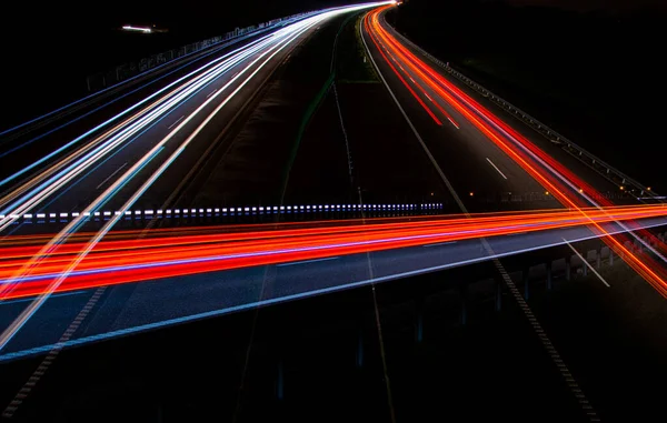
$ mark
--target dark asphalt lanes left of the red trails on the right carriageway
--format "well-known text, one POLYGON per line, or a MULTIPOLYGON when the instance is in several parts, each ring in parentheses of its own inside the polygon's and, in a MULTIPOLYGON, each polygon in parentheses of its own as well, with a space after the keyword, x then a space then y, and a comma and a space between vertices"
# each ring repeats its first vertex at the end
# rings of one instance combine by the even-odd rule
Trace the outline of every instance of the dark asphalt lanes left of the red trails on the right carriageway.
MULTIPOLYGON (((524 169, 489 142, 484 133, 444 101, 437 91, 424 83, 417 72, 390 49, 381 44, 378 48, 366 30, 364 37, 390 90, 405 108, 407 119, 415 125, 467 207, 477 211, 477 204, 482 198, 499 202, 501 195, 545 192, 524 169), (508 179, 498 178, 498 172, 489 165, 487 159, 504 169, 502 173, 508 179)), ((548 197, 544 200, 541 204, 531 205, 559 207, 548 197)))

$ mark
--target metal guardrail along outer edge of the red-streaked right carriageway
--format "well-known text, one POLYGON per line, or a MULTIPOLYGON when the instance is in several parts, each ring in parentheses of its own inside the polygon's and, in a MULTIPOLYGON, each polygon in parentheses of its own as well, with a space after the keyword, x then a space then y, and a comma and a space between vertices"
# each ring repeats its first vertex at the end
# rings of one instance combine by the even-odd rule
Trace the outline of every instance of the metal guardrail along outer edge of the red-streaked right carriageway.
POLYGON ((609 165, 607 162, 605 162, 601 159, 599 159, 598 157, 594 155, 586 149, 581 148, 580 145, 577 145, 576 143, 574 143, 566 137, 561 135, 560 133, 556 132, 555 130, 547 127, 542 122, 532 118, 530 114, 526 113, 521 109, 511 104, 509 101, 504 100, 499 95, 495 94, 494 92, 484 88, 482 85, 475 82, 470 78, 466 77, 464 73, 457 71, 449 64, 449 62, 442 62, 438 58, 434 57, 432 54, 430 54, 429 52, 424 50, 421 47, 415 44, 412 41, 407 39, 404 34, 398 32, 396 29, 394 29, 394 30, 395 30, 395 33, 398 37, 400 37, 401 40, 404 40, 404 42, 409 44, 412 49, 417 50, 422 56, 427 57, 430 61, 432 61, 434 63, 441 67, 449 74, 456 77, 458 80, 462 81, 468 87, 475 89, 481 95, 486 97, 489 101, 494 102, 495 104, 497 104, 498 107, 500 107, 501 109, 507 111, 508 113, 512 114, 515 118, 518 118, 519 120, 521 120, 524 123, 526 123, 527 125, 529 125, 530 128, 532 128, 534 130, 539 132, 541 135, 547 138, 552 143, 559 145, 561 149, 567 151, 573 157, 577 158, 579 161, 581 161, 584 164, 586 164, 587 167, 589 167, 590 169, 593 169, 594 171, 599 173, 601 177, 604 177, 605 179, 609 180, 610 182, 613 182, 614 184, 619 187, 619 190, 625 191, 628 194, 636 197, 640 200, 664 200, 664 197, 658 195, 658 193, 653 191, 649 187, 646 187, 646 185, 639 183, 635 179, 628 177, 627 174, 623 173, 621 171, 609 165))

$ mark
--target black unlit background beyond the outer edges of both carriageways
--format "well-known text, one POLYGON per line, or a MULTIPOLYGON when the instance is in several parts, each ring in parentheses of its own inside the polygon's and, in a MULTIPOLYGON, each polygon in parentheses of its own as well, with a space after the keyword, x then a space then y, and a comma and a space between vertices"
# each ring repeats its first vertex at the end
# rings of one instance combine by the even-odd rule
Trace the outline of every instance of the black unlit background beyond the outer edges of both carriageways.
MULTIPOLYGON (((350 1, 18 2, 7 9, 0 128, 86 93, 86 77, 189 42, 350 1), (123 33, 126 23, 168 28, 123 33)), ((657 0, 409 0, 407 36, 660 192, 666 8, 657 0)))

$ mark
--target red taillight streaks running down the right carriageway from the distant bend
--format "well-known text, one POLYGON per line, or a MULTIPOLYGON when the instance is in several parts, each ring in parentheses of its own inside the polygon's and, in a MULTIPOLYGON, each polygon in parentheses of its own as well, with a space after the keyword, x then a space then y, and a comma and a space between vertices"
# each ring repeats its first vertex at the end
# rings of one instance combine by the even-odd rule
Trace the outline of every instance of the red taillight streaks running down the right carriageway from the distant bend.
MULTIPOLYGON (((511 131, 507 124, 501 123, 497 117, 494 117, 488 110, 484 109, 480 104, 475 102, 462 91, 448 82, 445 78, 430 69, 408 49, 401 46, 398 40, 389 34, 379 23, 379 14, 385 9, 386 8, 381 8, 369 12, 367 14, 367 19, 365 20, 367 32, 370 34, 374 43, 384 57, 385 54, 381 49, 387 49, 387 47, 390 47, 394 51, 394 54, 400 58, 406 67, 410 68, 410 70, 421 78, 422 81, 425 81, 434 91, 436 91, 442 100, 460 112, 470 123, 479 129, 504 152, 515 160, 515 162, 517 162, 532 178, 542 184, 548 192, 555 194, 555 197, 563 204, 575 210, 579 210, 579 208, 585 204, 581 202, 581 199, 584 199, 588 204, 601 208, 601 205, 593 200, 591 195, 588 194, 596 193, 597 195, 595 197, 601 198, 601 195, 593 190, 593 188, 580 181, 571 172, 566 170, 554 159, 549 158, 544 151, 539 150, 527 139, 511 131), (380 46, 381 43, 384 43, 384 46, 380 46), (505 140, 508 140, 511 145, 505 140), (515 148, 512 148, 512 145, 515 145, 515 148), (516 147, 518 147, 518 150, 516 147), (556 180, 554 180, 552 177, 556 177, 556 180), (584 188, 584 190, 580 190, 580 188, 584 188)), ((391 68, 394 68, 386 57, 385 60, 391 68)), ((608 201, 605 201, 604 203, 610 204, 608 201)), ((600 235, 606 234, 606 231, 603 228, 598 226, 594 222, 591 223, 593 228, 598 231, 600 235)), ((628 226, 623 228, 624 230, 629 230, 628 226)), ((656 251, 640 236, 637 236, 631 232, 630 234, 639 240, 639 242, 649 251, 655 253, 663 261, 667 262, 667 259, 665 259, 664 255, 656 251)), ((626 259, 626 262, 635 271, 641 274, 648 283, 650 283, 658 292, 660 292, 660 294, 667 296, 667 282, 665 282, 665 278, 659 274, 664 272, 660 272, 660 268, 655 265, 653 259, 644 256, 644 261, 650 264, 647 265, 647 263, 643 262, 616 238, 605 236, 604 240, 610 246, 614 246, 617 252, 621 252, 626 259)))

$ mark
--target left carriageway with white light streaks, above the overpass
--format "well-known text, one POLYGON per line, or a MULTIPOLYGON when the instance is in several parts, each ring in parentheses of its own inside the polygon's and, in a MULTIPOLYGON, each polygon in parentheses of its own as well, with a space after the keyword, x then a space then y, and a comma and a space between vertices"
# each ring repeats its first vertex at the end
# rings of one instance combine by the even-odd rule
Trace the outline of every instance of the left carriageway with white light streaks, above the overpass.
POLYGON ((142 204, 159 208, 290 49, 337 13, 302 20, 227 52, 136 103, 120 123, 91 133, 77 150, 49 154, 6 177, 2 188, 23 182, 0 200, 6 215, 0 228, 11 223, 11 214, 28 211, 84 212, 102 204, 118 210, 133 203, 139 191, 142 204))

